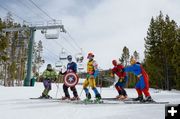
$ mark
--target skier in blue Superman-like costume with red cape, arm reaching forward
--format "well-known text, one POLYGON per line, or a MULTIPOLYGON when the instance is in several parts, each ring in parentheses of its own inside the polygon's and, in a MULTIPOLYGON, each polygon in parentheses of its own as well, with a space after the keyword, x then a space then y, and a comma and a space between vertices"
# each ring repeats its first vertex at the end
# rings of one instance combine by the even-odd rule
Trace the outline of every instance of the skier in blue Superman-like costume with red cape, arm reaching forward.
POLYGON ((151 95, 149 93, 149 77, 144 68, 140 63, 137 63, 134 57, 130 59, 131 66, 125 67, 123 69, 124 72, 133 72, 137 78, 138 82, 136 83, 136 91, 138 93, 138 97, 134 99, 134 101, 140 102, 153 102, 151 95), (143 93, 145 95, 145 99, 143 99, 143 93))

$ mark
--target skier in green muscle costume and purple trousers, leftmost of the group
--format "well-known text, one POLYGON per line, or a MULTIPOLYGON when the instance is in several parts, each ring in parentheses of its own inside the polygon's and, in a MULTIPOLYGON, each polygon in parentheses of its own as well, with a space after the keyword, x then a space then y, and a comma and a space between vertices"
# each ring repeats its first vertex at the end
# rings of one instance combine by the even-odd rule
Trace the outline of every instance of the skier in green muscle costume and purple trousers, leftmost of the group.
POLYGON ((52 98, 48 95, 49 91, 51 90, 51 83, 57 80, 57 73, 52 69, 51 64, 47 65, 46 70, 42 74, 43 76, 43 84, 44 84, 44 91, 40 98, 52 98))

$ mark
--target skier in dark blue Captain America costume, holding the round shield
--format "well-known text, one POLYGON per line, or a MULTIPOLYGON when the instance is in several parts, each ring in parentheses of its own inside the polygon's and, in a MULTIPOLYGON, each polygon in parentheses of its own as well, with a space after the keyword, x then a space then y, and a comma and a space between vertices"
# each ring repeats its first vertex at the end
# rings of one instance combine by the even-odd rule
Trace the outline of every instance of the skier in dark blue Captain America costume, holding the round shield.
MULTIPOLYGON (((67 70, 66 70, 66 72, 64 72, 64 73, 62 73, 62 71, 60 71, 60 74, 64 75, 64 74, 69 73, 69 72, 77 73, 77 64, 72 61, 72 56, 71 56, 71 55, 68 55, 68 56, 67 56, 67 60, 68 60, 68 62, 69 62, 69 63, 67 64, 67 70)), ((75 86, 70 87, 70 89, 71 89, 71 91, 73 92, 73 95, 74 95, 73 98, 70 98, 68 88, 69 88, 68 86, 66 86, 65 84, 63 84, 63 91, 64 91, 65 96, 62 97, 62 100, 66 100, 66 99, 79 100, 80 98, 79 98, 79 96, 78 96, 76 87, 75 87, 75 86)))

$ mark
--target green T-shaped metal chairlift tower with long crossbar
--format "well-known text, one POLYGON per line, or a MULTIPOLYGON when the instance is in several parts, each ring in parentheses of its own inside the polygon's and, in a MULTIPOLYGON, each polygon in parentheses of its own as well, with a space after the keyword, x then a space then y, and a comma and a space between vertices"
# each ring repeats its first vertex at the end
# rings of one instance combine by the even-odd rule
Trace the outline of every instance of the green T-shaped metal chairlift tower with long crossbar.
MULTIPOLYGON (((30 27, 17 27, 17 28, 5 28, 3 29, 4 32, 15 32, 15 31, 23 31, 29 30, 30 31, 30 40, 28 45, 28 61, 27 61, 27 74, 24 80, 24 86, 30 86, 31 80, 31 72, 32 72, 32 55, 33 55, 33 44, 34 44, 34 35, 36 30, 52 30, 52 29, 59 29, 60 32, 66 32, 64 26, 61 24, 52 24, 46 26, 30 26, 30 27)), ((54 35, 53 35, 54 36, 54 35)), ((48 37, 51 39, 51 37, 48 37)), ((52 39, 55 39, 54 37, 52 39)))

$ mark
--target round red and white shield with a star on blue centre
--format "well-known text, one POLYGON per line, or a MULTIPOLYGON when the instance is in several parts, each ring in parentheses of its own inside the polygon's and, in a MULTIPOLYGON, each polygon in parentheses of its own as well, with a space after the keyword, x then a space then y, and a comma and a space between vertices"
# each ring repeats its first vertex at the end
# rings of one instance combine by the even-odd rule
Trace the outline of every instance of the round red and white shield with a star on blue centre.
POLYGON ((74 72, 69 72, 64 75, 64 84, 68 87, 73 87, 79 82, 79 77, 74 72))

